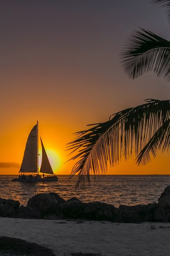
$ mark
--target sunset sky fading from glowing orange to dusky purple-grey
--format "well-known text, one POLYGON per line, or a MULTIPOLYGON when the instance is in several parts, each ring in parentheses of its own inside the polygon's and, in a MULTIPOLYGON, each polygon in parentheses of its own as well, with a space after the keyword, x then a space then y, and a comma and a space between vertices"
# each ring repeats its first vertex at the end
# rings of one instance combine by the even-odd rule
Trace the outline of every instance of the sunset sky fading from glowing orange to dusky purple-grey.
MULTIPOLYGON (((170 39, 165 10, 150 0, 0 0, 0 6, 0 174, 18 173, 37 120, 53 170, 70 174, 66 144, 76 131, 147 98, 169 99, 167 81, 154 73, 131 80, 119 60, 138 27, 170 39)), ((134 158, 108 174, 170 174, 168 152, 142 167, 134 158)))

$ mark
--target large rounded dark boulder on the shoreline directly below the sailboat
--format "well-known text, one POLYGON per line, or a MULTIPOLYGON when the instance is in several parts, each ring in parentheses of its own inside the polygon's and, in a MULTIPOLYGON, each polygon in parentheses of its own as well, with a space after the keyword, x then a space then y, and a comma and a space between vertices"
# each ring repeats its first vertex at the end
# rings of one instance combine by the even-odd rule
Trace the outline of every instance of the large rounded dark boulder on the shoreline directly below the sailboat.
POLYGON ((54 214, 58 208, 58 200, 53 194, 37 194, 30 198, 27 203, 28 207, 38 211, 41 217, 54 214))

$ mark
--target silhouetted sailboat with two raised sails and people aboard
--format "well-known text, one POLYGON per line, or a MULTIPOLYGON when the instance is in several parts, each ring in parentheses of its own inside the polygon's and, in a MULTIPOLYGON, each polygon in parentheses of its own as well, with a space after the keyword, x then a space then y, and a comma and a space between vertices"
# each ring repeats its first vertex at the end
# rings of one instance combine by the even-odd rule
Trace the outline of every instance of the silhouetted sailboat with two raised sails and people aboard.
POLYGON ((30 131, 25 146, 23 161, 19 170, 19 177, 12 181, 20 182, 39 182, 39 181, 58 181, 58 177, 53 173, 52 167, 48 160, 46 150, 44 148, 41 136, 42 162, 40 170, 38 170, 38 121, 30 131), (43 175, 39 175, 41 172, 43 175), (48 176, 44 176, 48 174, 48 176), (49 176, 51 175, 51 176, 49 176))

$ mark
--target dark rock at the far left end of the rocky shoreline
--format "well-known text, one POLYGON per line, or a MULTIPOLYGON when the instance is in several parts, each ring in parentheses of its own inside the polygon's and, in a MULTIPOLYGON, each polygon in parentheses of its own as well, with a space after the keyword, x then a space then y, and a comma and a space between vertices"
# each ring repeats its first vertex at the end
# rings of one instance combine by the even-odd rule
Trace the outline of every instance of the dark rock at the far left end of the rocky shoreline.
POLYGON ((15 210, 19 206, 19 201, 0 198, 0 217, 14 217, 15 210))

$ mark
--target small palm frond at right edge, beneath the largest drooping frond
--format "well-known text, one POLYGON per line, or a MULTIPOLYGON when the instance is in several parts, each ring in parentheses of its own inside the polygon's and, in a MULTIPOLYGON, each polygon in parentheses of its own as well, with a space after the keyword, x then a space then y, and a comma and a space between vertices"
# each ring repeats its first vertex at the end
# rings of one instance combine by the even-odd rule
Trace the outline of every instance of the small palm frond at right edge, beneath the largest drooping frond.
POLYGON ((170 119, 156 131, 149 142, 136 157, 137 165, 146 165, 151 161, 150 154, 156 157, 156 152, 162 147, 162 152, 170 147, 170 119))

